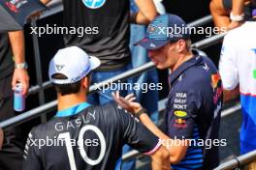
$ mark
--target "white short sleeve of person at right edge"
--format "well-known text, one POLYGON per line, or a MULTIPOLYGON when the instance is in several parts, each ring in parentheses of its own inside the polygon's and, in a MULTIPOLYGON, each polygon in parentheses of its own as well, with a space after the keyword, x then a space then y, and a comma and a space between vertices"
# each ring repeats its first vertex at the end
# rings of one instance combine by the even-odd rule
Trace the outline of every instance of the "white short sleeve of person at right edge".
POLYGON ((227 35, 224 38, 219 60, 219 73, 225 90, 233 90, 239 84, 236 46, 230 38, 230 35, 227 35))

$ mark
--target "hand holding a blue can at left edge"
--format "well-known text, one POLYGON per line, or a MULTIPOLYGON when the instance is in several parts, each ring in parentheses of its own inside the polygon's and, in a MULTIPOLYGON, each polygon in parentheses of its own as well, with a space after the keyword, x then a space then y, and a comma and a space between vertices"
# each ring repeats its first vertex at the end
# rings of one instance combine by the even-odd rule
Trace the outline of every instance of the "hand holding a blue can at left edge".
POLYGON ((16 69, 13 75, 12 86, 13 90, 15 90, 16 83, 20 82, 23 87, 22 95, 26 95, 29 88, 29 76, 25 69, 16 69))

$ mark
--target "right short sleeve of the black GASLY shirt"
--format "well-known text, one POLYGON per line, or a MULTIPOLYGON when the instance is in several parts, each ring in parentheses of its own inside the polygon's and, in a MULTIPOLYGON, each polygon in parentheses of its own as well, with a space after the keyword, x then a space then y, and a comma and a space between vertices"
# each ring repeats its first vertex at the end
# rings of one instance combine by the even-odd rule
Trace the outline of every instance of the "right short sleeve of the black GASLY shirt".
POLYGON ((123 129, 123 139, 132 148, 145 155, 154 153, 161 145, 161 141, 131 113, 123 109, 119 111, 119 126, 123 129))

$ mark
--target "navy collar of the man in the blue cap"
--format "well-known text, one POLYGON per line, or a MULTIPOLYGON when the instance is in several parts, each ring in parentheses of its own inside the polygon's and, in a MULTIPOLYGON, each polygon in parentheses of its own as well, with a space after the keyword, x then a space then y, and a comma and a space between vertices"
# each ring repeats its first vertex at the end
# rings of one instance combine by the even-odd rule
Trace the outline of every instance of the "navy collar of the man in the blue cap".
POLYGON ((191 59, 185 61, 183 64, 181 64, 176 71, 173 71, 169 76, 169 83, 172 85, 176 78, 179 77, 180 74, 182 74, 184 71, 188 70, 189 68, 196 66, 200 64, 203 61, 202 56, 195 55, 191 59))

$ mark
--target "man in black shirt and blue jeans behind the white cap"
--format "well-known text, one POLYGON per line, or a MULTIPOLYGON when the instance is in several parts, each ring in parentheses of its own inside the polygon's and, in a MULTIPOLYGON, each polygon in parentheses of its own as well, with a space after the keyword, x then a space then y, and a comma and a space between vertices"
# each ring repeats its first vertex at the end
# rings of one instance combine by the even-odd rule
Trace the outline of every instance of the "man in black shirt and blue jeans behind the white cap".
MULTIPOLYGON (((49 0, 41 0, 48 3, 49 0)), ((74 1, 63 0, 64 26, 92 29, 82 37, 64 35, 66 46, 77 45, 89 55, 101 60, 102 65, 93 72, 92 84, 112 78, 132 69, 129 49, 130 23, 148 24, 156 15, 153 0, 136 0, 139 11, 130 15, 129 0, 74 1)), ((131 83, 131 81, 128 81, 131 83)), ((93 104, 112 101, 112 90, 99 91, 89 97, 93 104)), ((122 89, 123 95, 127 94, 122 89)))

